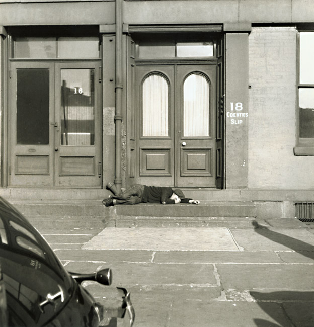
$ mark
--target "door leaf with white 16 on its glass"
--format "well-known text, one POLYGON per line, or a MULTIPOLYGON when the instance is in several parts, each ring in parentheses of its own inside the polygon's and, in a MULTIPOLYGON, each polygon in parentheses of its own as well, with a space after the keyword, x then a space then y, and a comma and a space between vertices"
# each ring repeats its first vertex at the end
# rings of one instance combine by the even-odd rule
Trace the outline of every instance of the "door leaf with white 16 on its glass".
POLYGON ((97 64, 58 63, 55 78, 55 185, 100 186, 97 64))

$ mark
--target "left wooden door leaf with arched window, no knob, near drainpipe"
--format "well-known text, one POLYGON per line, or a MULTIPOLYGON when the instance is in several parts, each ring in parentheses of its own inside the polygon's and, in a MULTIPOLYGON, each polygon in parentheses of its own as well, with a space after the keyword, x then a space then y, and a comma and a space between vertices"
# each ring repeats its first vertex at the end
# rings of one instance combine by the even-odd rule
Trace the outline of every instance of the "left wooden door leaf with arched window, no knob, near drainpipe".
POLYGON ((136 183, 174 185, 174 67, 136 69, 136 183))

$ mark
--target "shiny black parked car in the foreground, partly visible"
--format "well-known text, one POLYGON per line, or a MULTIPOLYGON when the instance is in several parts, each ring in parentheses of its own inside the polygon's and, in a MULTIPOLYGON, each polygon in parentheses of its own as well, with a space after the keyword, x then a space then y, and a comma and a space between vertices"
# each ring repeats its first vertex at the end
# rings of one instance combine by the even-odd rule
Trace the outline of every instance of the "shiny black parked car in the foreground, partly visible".
POLYGON ((0 197, 1 326, 113 326, 116 317, 132 326, 135 313, 127 290, 117 288, 121 305, 107 310, 81 285, 85 280, 110 285, 111 269, 67 272, 42 235, 0 197), (116 317, 111 319, 110 312, 116 317))

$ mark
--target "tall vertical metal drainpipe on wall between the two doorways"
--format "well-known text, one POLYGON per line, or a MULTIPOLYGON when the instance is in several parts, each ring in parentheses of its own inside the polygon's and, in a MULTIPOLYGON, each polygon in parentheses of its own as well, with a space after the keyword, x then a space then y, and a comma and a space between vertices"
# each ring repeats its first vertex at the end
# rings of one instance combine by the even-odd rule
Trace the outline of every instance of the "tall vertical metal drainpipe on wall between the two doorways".
POLYGON ((117 192, 121 190, 121 151, 122 151, 122 1, 116 0, 116 112, 115 112, 115 180, 117 192))

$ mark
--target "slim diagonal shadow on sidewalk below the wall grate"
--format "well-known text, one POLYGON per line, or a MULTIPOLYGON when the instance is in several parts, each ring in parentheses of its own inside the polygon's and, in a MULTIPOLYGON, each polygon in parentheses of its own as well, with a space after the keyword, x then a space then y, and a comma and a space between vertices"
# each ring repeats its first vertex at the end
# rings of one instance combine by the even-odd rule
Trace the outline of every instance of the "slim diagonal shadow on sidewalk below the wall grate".
POLYGON ((291 250, 300 253, 305 257, 314 260, 314 246, 312 246, 311 244, 308 244, 299 239, 270 230, 267 227, 259 225, 258 222, 256 221, 253 221, 252 225, 255 227, 254 231, 256 233, 272 240, 273 242, 282 244, 283 246, 290 248, 291 250))

